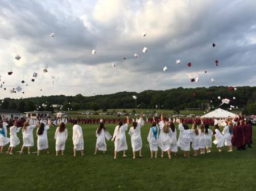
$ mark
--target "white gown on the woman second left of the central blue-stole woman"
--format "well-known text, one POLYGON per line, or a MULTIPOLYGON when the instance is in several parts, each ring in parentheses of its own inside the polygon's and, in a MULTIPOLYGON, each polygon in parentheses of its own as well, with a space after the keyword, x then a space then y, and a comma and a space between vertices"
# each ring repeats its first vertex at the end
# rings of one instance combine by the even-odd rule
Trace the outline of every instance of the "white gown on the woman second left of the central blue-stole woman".
POLYGON ((127 128, 128 124, 122 125, 120 128, 119 125, 115 127, 112 141, 114 141, 115 151, 117 152, 127 150, 128 148, 125 135, 127 128))

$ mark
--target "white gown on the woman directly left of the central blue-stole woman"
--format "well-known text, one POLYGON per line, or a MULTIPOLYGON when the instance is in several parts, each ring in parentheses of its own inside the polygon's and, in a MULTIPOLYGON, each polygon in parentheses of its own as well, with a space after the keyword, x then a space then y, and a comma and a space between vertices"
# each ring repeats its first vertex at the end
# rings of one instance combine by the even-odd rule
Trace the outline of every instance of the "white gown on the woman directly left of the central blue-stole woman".
POLYGON ((133 151, 139 151, 142 148, 142 139, 141 139, 141 128, 144 125, 143 118, 140 118, 137 122, 137 127, 134 129, 132 126, 129 130, 129 135, 131 136, 131 147, 133 151))

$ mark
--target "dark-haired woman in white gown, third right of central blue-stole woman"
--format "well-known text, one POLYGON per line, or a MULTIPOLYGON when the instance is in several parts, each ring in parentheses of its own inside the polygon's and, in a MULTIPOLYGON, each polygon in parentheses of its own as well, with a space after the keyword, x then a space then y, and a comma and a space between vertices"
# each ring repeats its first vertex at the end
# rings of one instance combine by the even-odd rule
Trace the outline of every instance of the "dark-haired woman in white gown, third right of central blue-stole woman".
POLYGON ((191 130, 187 124, 183 123, 183 120, 179 119, 180 135, 177 141, 177 146, 184 151, 184 157, 189 158, 190 142, 191 142, 191 130))

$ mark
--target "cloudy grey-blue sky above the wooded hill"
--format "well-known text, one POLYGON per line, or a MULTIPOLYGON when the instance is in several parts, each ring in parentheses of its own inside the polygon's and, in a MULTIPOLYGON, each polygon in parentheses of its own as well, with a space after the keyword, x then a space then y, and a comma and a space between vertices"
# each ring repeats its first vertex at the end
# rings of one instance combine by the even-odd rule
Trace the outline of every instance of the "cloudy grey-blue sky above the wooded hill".
POLYGON ((250 0, 1 0, 0 99, 255 86, 255 7, 250 0))

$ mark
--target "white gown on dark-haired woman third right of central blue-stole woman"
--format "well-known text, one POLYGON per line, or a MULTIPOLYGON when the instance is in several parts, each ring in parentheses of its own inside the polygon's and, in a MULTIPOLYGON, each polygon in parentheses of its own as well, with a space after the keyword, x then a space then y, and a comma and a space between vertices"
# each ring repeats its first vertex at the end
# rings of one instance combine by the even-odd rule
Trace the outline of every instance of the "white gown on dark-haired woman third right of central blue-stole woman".
POLYGON ((180 135, 177 141, 177 146, 183 151, 190 151, 191 133, 189 129, 184 129, 183 125, 179 124, 180 135))

